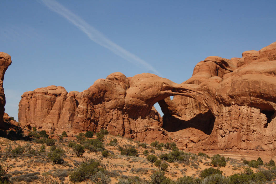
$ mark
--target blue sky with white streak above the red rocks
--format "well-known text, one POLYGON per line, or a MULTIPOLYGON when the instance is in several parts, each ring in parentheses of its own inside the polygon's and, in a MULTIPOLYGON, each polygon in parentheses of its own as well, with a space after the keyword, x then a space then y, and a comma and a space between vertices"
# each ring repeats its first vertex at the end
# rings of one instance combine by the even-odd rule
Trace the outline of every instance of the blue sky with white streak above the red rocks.
POLYGON ((276 41, 276 1, 0 1, 0 51, 12 57, 6 112, 25 91, 83 91, 113 72, 181 83, 210 55, 241 57, 276 41))

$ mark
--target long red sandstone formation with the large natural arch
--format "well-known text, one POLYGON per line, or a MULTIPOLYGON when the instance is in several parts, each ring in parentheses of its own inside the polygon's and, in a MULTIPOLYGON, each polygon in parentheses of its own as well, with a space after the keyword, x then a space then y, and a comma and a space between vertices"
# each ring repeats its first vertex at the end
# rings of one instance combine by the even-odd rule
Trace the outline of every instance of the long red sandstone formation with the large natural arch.
POLYGON ((61 133, 99 131, 183 149, 276 150, 276 42, 242 58, 207 57, 182 84, 154 74, 112 73, 83 92, 25 92, 18 119, 61 133), (170 96, 174 96, 171 100, 170 96), (159 103, 164 116, 153 105, 159 103))

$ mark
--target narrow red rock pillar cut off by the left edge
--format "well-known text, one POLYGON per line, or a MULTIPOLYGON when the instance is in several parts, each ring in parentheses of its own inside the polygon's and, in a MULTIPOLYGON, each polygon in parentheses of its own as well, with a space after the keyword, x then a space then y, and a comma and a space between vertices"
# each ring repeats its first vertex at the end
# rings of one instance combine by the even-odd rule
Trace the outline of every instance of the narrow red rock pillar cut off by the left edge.
POLYGON ((3 81, 4 75, 8 67, 12 64, 12 60, 9 54, 0 52, 0 127, 3 123, 3 116, 5 113, 6 98, 4 94, 3 81))

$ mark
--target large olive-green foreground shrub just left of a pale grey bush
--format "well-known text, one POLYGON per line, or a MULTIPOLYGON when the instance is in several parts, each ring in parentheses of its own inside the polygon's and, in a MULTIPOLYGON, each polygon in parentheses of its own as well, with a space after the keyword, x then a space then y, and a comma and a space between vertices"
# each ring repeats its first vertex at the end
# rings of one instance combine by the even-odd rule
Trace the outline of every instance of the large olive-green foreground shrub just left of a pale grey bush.
POLYGON ((81 182, 85 179, 88 179, 91 175, 95 175, 102 168, 99 168, 99 162, 94 159, 88 159, 83 161, 80 166, 73 172, 69 174, 69 179, 71 182, 81 182))

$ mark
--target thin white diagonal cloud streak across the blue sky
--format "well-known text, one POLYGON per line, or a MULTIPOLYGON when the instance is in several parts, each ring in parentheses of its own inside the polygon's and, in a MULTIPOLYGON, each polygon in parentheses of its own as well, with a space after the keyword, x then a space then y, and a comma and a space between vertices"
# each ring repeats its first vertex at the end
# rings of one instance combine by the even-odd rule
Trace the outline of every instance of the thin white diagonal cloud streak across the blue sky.
POLYGON ((134 63, 136 65, 142 65, 143 67, 147 68, 148 70, 152 70, 154 73, 160 75, 158 71, 153 68, 152 65, 145 62, 141 58, 137 57, 136 55, 132 54, 131 52, 125 50, 124 48, 118 46, 110 39, 108 39, 105 35, 101 32, 93 28, 87 22, 85 22, 81 17, 78 15, 73 14, 70 10, 62 6, 59 2, 55 0, 41 0, 44 5, 46 5, 52 11, 60 14, 64 18, 66 18, 69 22, 73 25, 77 26, 81 31, 83 31, 92 41, 96 42, 97 44, 111 50, 114 54, 126 59, 127 61, 134 63))

